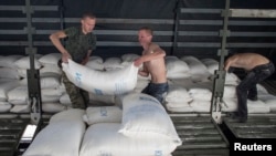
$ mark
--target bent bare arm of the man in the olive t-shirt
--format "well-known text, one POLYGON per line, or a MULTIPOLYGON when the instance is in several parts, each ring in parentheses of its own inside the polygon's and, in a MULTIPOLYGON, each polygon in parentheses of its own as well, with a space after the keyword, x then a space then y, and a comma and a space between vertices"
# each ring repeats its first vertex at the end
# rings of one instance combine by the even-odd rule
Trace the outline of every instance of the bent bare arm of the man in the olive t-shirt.
POLYGON ((66 38, 67 35, 65 34, 64 31, 57 31, 54 32, 50 35, 51 42, 54 44, 54 46, 62 53, 62 61, 67 62, 67 59, 71 58, 70 53, 62 45, 61 40, 63 38, 66 38))

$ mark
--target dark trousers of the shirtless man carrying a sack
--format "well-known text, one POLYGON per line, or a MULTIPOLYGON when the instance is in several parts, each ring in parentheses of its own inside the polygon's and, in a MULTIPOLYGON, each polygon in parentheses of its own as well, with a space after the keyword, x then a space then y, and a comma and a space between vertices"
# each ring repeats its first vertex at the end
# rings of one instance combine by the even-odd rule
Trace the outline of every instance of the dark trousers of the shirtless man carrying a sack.
POLYGON ((168 93, 169 85, 166 83, 149 83, 147 87, 145 87, 141 93, 151 95, 156 97, 161 104, 163 103, 163 96, 168 93))

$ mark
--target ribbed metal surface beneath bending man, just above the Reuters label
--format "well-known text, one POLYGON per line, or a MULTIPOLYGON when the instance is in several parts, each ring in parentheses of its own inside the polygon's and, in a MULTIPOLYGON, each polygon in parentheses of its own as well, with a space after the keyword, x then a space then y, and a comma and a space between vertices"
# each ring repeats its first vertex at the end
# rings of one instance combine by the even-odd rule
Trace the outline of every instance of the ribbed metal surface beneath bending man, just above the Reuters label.
POLYGON ((246 123, 230 117, 224 122, 237 138, 276 138, 276 114, 252 115, 246 123))

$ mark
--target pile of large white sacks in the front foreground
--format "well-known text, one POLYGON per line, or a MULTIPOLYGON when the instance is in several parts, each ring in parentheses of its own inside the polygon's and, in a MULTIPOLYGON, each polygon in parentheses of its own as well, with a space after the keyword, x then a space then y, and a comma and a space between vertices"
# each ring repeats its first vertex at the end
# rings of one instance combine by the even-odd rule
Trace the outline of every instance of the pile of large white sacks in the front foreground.
POLYGON ((182 144, 152 96, 130 93, 121 97, 121 105, 123 110, 100 106, 53 115, 23 156, 170 156, 182 144))

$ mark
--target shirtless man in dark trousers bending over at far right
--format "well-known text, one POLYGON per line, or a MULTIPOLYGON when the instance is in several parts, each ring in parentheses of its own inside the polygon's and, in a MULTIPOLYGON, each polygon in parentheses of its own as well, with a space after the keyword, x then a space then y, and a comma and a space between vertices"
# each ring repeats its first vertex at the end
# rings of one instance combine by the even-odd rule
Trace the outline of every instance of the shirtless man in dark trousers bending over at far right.
POLYGON ((275 71, 274 64, 265 56, 256 53, 238 53, 225 61, 224 70, 230 67, 244 69, 247 75, 236 86, 237 113, 234 118, 245 123, 247 121, 247 98, 257 101, 257 83, 272 75, 275 71))

